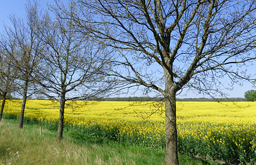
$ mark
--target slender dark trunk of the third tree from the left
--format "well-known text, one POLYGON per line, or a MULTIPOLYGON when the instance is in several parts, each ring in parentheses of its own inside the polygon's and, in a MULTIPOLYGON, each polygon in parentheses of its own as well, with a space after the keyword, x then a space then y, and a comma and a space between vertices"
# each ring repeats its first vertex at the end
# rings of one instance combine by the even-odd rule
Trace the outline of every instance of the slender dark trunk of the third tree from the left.
POLYGON ((64 124, 64 109, 65 109, 65 94, 62 94, 59 101, 59 126, 58 126, 58 139, 62 139, 63 124, 64 124))

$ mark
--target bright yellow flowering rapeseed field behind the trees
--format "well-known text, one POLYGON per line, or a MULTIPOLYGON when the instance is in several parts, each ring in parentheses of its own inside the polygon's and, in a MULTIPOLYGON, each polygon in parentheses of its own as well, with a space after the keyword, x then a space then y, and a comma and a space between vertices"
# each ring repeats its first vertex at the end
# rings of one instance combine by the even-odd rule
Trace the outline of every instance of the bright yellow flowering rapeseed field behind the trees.
MULTIPOLYGON (((20 105, 8 102, 4 113, 19 115, 20 105)), ((65 124, 73 130, 82 127, 92 135, 95 129, 101 136, 164 148, 164 114, 163 105, 157 103, 76 101, 67 102, 65 124)), ((29 100, 25 116, 57 121, 59 103, 29 100)), ((255 102, 177 102, 177 128, 180 153, 229 161, 256 157, 255 102)))

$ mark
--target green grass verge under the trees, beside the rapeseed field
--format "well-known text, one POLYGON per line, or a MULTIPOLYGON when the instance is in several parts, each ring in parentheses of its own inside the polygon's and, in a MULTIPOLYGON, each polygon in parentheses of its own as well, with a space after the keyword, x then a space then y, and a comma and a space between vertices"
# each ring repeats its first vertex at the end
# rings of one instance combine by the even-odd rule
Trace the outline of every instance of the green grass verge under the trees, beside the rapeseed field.
MULTIPOLYGON (((57 132, 39 126, 17 128, 17 121, 0 122, 0 164, 164 164, 164 151, 120 144, 84 134, 57 132)), ((220 164, 195 157, 179 157, 180 164, 220 164)))

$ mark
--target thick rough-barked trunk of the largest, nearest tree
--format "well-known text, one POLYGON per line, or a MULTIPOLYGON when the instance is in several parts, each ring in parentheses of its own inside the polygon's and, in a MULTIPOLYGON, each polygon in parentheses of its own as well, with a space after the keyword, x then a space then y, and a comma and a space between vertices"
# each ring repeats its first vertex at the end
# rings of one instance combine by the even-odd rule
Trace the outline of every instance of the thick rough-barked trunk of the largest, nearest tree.
POLYGON ((176 91, 175 85, 168 71, 164 69, 165 76, 165 133, 166 148, 164 163, 178 165, 178 145, 176 127, 176 91))

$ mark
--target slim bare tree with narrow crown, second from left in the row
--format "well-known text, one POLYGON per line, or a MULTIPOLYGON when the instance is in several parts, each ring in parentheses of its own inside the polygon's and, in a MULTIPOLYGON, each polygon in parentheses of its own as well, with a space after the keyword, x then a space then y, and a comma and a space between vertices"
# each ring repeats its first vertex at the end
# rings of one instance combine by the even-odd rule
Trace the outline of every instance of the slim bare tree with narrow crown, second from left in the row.
POLYGON ((10 16, 12 28, 6 28, 6 38, 11 42, 11 48, 6 47, 9 65, 16 70, 16 84, 22 95, 22 109, 18 128, 23 128, 26 100, 37 91, 35 66, 39 64, 39 55, 42 53, 41 39, 38 37, 40 11, 36 1, 28 2, 25 6, 26 19, 10 16))

